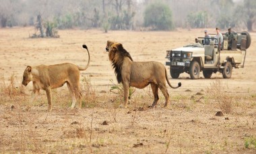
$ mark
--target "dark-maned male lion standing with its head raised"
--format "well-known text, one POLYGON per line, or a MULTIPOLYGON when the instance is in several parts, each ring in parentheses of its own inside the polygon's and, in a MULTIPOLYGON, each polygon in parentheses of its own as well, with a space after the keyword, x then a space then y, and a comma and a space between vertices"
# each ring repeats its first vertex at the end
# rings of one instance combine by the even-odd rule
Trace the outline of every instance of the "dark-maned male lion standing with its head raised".
POLYGON ((158 88, 164 94, 164 106, 168 106, 169 94, 166 88, 166 81, 171 88, 179 88, 181 86, 181 82, 179 82, 177 87, 173 87, 170 84, 167 78, 166 68, 160 62, 133 62, 129 52, 123 48, 122 44, 107 41, 106 52, 108 52, 109 60, 115 69, 117 82, 123 83, 125 108, 127 108, 129 86, 145 88, 150 84, 154 94, 152 107, 156 106, 159 100, 158 88))

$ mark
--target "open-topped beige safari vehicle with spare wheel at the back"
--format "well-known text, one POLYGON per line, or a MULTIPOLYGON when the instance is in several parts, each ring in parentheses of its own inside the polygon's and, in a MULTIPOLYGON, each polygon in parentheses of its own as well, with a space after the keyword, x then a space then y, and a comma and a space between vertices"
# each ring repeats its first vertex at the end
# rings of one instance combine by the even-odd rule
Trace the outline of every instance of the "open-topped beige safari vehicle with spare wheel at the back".
MULTIPOLYGON (((223 33, 222 49, 218 40, 210 37, 210 45, 204 44, 205 37, 198 37, 199 43, 189 44, 182 48, 166 51, 166 66, 170 66, 170 76, 179 78, 186 72, 191 79, 199 78, 202 71, 205 78, 211 78, 213 73, 220 72, 223 78, 231 78, 232 68, 243 68, 246 50, 251 45, 251 36, 247 31, 235 33, 231 48, 228 49, 228 33, 223 33)), ((213 35, 213 34, 210 34, 213 35)))

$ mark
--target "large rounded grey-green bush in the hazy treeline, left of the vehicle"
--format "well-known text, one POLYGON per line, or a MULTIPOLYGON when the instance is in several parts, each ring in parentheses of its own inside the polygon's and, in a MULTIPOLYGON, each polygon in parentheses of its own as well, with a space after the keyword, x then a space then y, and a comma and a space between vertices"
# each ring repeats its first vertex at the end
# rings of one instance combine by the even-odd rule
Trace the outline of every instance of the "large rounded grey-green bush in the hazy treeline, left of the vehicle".
POLYGON ((164 3, 152 3, 144 11, 144 25, 153 30, 170 30, 174 28, 172 11, 164 3))

